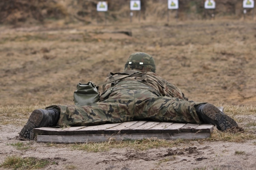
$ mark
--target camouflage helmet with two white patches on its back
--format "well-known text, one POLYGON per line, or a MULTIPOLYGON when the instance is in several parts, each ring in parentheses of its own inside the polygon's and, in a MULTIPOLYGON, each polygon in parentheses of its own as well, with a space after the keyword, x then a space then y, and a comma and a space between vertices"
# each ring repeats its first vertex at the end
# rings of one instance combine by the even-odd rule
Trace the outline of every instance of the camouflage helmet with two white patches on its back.
POLYGON ((125 63, 123 71, 126 70, 156 73, 156 64, 151 55, 144 52, 135 52, 129 56, 125 63))

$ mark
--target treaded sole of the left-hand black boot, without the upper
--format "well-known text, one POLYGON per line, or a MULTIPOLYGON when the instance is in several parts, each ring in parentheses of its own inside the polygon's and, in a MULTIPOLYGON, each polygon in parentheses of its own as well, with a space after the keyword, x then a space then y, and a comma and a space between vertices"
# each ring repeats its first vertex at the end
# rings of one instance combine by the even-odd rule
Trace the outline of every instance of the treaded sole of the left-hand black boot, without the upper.
POLYGON ((20 139, 33 140, 32 130, 40 125, 43 120, 43 115, 40 109, 36 109, 31 113, 28 122, 19 133, 20 139))

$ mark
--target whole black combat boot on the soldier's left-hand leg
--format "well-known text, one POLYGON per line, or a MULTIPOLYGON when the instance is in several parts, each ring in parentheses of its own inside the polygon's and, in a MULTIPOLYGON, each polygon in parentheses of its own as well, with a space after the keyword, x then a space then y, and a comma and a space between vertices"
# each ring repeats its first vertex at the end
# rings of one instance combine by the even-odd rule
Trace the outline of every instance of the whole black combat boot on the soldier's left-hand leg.
POLYGON ((19 133, 20 139, 32 140, 33 135, 31 134, 33 128, 41 128, 47 126, 55 126, 59 119, 59 111, 54 108, 36 109, 34 110, 23 129, 19 133))

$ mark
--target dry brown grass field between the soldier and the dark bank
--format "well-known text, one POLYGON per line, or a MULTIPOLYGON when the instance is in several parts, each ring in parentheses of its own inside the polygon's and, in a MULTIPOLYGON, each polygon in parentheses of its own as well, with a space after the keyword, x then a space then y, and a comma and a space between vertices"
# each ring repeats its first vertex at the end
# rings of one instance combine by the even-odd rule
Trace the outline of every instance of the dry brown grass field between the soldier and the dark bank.
MULTIPOLYGON (((55 23, 56 24, 56 23, 55 23)), ((104 81, 137 51, 189 99, 255 104, 254 22, 186 21, 0 27, 0 106, 72 104, 78 82, 104 81), (109 32, 128 30, 132 37, 109 32), (19 83, 17 83, 19 82, 19 83)))

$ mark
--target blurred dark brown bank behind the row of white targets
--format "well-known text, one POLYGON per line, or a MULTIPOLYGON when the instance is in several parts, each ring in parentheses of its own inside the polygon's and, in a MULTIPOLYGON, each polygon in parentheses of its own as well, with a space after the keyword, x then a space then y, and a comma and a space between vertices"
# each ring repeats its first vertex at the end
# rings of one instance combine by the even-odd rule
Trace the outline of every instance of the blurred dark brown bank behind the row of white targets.
MULTIPOLYGON (((130 21, 130 0, 108 0, 108 11, 97 12, 97 0, 1 0, 1 24, 35 24, 54 20, 65 23, 83 22, 90 24, 104 22, 105 15, 109 22, 130 21)), ((176 16, 176 10, 167 8, 167 0, 141 0, 141 21, 167 20, 176 16)), ((241 19, 244 15, 242 0, 215 0, 215 9, 205 9, 205 0, 178 1, 179 20, 215 18, 241 19)), ((246 17, 252 19, 254 8, 247 8, 246 17)), ((134 17, 139 12, 134 12, 134 17)))

